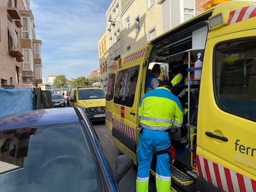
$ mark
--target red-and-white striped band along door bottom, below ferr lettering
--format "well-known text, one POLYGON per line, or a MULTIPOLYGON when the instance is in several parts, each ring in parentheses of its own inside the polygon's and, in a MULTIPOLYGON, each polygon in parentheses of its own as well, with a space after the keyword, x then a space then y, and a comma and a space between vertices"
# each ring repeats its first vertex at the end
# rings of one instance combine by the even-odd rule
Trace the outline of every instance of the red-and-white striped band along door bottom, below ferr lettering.
POLYGON ((228 192, 256 192, 256 181, 197 155, 199 177, 228 192))

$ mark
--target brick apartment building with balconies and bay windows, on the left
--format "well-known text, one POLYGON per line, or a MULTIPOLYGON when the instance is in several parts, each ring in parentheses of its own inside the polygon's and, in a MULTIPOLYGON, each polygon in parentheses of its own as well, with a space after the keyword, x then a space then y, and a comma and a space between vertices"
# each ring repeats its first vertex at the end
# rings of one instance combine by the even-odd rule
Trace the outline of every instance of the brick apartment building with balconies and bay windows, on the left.
POLYGON ((0 1, 0 86, 42 83, 41 44, 30 0, 0 1))

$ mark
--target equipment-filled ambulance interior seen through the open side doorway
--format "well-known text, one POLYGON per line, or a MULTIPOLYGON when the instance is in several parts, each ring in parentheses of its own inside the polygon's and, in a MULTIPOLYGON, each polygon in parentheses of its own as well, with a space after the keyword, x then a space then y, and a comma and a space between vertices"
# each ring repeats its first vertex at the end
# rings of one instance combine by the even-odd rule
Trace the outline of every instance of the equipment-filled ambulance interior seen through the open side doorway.
MULTIPOLYGON (((183 174, 179 169, 186 167, 192 177, 196 177, 195 172, 195 148, 196 148, 196 130, 197 130, 197 107, 200 88, 200 78, 194 78, 195 70, 202 70, 202 67, 195 69, 194 64, 197 61, 197 55, 203 56, 205 42, 207 38, 207 23, 196 23, 194 27, 182 31, 182 35, 169 35, 171 38, 158 38, 152 41, 153 49, 148 59, 149 64, 158 63, 168 66, 167 77, 161 80, 171 81, 183 66, 182 56, 187 54, 187 75, 183 80, 173 88, 173 93, 178 96, 184 109, 184 124, 173 138, 172 144, 176 148, 176 161, 171 165, 173 178, 181 185, 190 185, 194 179, 183 174), (189 151, 189 152, 187 152, 189 151), (190 155, 189 155, 190 153, 190 155), (194 172, 192 171, 194 170, 194 172)), ((201 58, 200 61, 203 59, 201 58)), ((156 161, 153 158, 153 162, 156 161)), ((153 163, 154 164, 154 163, 153 163)), ((153 165, 152 164, 152 165, 153 165)), ((185 170, 186 170, 185 169, 185 170)))

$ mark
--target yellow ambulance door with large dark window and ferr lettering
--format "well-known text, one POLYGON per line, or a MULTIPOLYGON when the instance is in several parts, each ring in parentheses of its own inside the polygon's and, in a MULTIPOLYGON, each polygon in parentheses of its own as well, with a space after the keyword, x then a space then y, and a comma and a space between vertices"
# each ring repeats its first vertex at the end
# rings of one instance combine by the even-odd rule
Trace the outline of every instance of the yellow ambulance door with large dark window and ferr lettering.
POLYGON ((218 36, 205 48, 197 166, 200 177, 224 191, 253 191, 252 183, 255 186, 255 33, 243 30, 218 36))

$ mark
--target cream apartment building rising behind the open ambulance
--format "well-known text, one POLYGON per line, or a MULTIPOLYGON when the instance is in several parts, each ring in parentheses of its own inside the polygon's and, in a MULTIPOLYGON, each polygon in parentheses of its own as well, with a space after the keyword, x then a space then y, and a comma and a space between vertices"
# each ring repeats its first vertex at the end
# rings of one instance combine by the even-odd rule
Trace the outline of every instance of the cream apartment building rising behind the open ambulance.
MULTIPOLYGON (((100 69, 105 68, 101 70, 102 81, 108 81, 108 67, 112 61, 194 15, 195 0, 113 0, 106 10, 106 31, 103 33, 107 45, 106 61, 102 62, 99 56, 100 69)), ((98 42, 100 52, 102 42, 98 42)))

